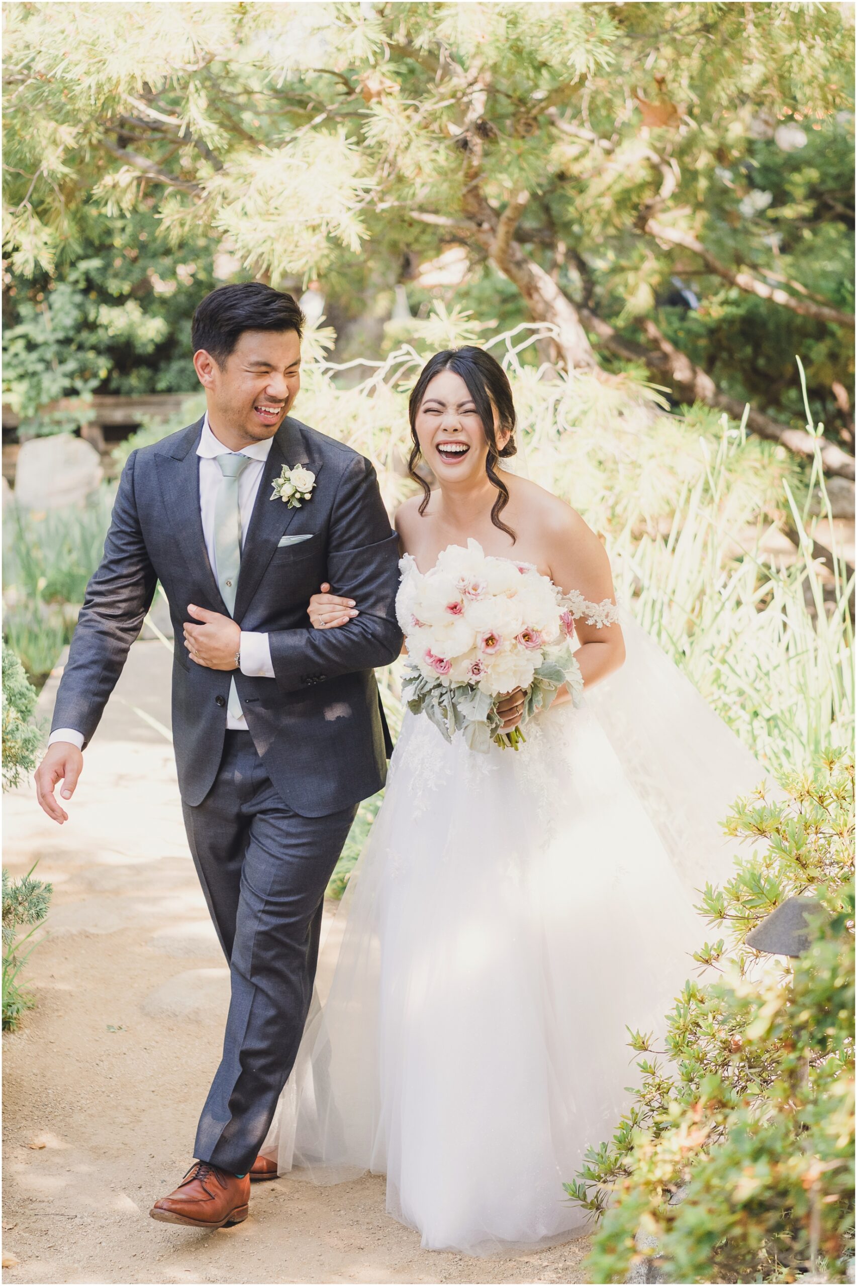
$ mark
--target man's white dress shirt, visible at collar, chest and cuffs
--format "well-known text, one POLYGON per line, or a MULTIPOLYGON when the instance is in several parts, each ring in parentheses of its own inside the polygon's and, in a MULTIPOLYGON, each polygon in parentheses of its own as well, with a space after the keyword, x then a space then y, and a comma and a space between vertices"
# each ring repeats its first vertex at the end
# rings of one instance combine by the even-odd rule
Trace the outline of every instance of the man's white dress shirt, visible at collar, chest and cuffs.
MULTIPOLYGON (((268 441, 253 442, 252 446, 244 446, 241 451, 242 455, 250 457, 250 464, 242 469, 241 476, 238 477, 238 508, 241 511, 242 547, 247 534, 247 527, 250 526, 253 504, 256 503, 256 493, 259 491, 259 484, 261 482, 265 460, 268 459, 268 453, 270 451, 270 444, 272 439, 269 437, 268 441)), ((229 448, 224 446, 220 439, 215 437, 212 433, 211 426, 208 424, 208 413, 206 412, 206 417, 202 422, 202 436, 199 437, 199 445, 197 446, 197 455, 199 457, 199 512, 202 514, 202 535, 206 541, 206 552, 208 554, 211 570, 215 574, 215 580, 217 579, 217 563, 215 556, 215 500, 217 487, 223 480, 220 466, 215 463, 215 458, 217 455, 223 455, 224 451, 229 451, 229 448)), ((184 639, 175 639, 174 647, 184 647, 184 639)), ((193 664, 194 662, 192 661, 190 665, 193 664)), ((241 631, 241 673, 252 678, 274 678, 274 666, 270 660, 270 644, 266 634, 257 634, 253 630, 241 631)), ((232 682, 234 684, 235 680, 233 679, 232 682)), ((228 705, 230 703, 232 702, 228 702, 228 705)), ((247 720, 244 719, 243 711, 235 719, 226 712, 226 728, 247 732, 247 720)), ((57 728, 55 732, 51 732, 48 745, 53 746, 55 741, 71 741, 75 746, 82 750, 84 734, 77 732, 75 728, 57 728)))

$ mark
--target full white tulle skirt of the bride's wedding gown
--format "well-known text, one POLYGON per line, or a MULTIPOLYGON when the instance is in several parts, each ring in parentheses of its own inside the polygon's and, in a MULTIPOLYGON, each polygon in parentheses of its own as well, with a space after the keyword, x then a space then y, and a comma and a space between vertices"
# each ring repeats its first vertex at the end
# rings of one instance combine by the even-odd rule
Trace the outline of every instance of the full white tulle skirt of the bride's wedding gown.
POLYGON ((763 777, 622 624, 623 671, 538 716, 517 752, 405 714, 322 952, 263 1152, 320 1183, 386 1174, 387 1210, 427 1249, 585 1229, 562 1184, 628 1103, 627 1025, 663 1030, 692 975, 695 889, 731 864, 718 820, 763 777))

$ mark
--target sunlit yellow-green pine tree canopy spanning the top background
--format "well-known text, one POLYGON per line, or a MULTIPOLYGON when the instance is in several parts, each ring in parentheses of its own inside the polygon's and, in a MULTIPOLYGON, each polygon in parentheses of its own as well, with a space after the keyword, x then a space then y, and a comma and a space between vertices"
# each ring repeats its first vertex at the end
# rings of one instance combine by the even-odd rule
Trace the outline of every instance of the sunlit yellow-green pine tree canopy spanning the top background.
MULTIPOLYGON (((655 322, 784 418, 800 414, 802 352, 813 418, 848 431, 833 386, 849 383, 849 338, 813 309, 853 309, 852 21, 780 0, 18 5, 8 270, 63 278, 103 239, 94 225, 121 260, 149 219, 174 261, 192 246, 199 265, 207 240, 275 284, 322 274, 340 328, 377 316, 396 283, 414 309, 456 297, 507 328, 533 297, 515 265, 498 279, 485 229, 520 198, 525 275, 547 271, 645 345, 655 322), (421 284, 450 244, 463 279, 421 284)), ((130 312, 115 324, 136 332, 130 312)))

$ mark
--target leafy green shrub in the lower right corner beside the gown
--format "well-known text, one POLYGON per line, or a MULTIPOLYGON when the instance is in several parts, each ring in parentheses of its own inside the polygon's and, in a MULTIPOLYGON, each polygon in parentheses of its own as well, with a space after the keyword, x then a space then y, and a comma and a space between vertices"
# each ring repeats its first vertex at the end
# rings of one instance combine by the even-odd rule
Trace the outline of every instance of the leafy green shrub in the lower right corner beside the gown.
POLYGON ((633 1105, 566 1186, 601 1215, 593 1281, 624 1280, 638 1233, 676 1282, 791 1282, 825 1260, 836 1281, 853 1254, 853 757, 829 751, 781 787, 737 802, 727 833, 754 851, 705 890, 732 949, 696 959, 721 980, 686 984, 663 1051, 631 1034, 633 1105), (820 901, 809 948, 763 961, 746 934, 799 894, 820 901))

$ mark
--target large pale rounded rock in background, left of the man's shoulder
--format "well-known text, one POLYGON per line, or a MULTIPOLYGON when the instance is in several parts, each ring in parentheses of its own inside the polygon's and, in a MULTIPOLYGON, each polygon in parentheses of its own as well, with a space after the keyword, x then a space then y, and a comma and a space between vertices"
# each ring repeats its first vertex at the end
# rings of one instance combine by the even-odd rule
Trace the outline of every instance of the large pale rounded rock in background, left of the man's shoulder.
POLYGON ((100 455, 82 437, 71 433, 31 437, 18 451, 15 504, 26 509, 82 504, 103 477, 100 455))

